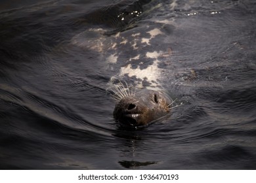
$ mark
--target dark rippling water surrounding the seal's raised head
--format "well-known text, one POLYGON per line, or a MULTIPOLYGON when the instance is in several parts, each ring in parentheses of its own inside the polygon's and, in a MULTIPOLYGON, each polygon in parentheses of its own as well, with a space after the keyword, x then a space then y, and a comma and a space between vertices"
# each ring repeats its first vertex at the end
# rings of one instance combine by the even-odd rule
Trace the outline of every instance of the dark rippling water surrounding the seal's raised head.
POLYGON ((1 169, 256 168, 254 1, 1 2, 1 169), (120 129, 106 88, 146 52, 183 105, 120 129))

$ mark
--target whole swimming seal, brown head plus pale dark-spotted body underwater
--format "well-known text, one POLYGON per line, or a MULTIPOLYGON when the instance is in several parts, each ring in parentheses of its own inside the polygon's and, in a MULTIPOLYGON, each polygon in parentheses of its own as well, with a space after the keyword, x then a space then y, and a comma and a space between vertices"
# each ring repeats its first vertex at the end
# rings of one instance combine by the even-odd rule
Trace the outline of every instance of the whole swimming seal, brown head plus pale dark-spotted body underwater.
MULTIPOLYGON (((170 39, 175 26, 172 20, 156 20, 151 17, 150 12, 159 11, 166 6, 157 1, 139 2, 134 5, 132 3, 132 6, 118 5, 117 9, 123 8, 117 12, 116 8, 110 7, 113 16, 106 18, 106 25, 116 22, 117 29, 115 26, 113 29, 109 28, 104 24, 105 21, 99 27, 89 24, 90 27, 70 41, 70 44, 89 50, 90 54, 95 54, 97 59, 107 63, 106 69, 111 73, 108 86, 109 89, 114 86, 112 92, 116 99, 113 115, 119 124, 126 127, 150 124, 169 114, 174 103, 171 97, 163 92, 165 87, 161 81, 174 76, 174 72, 165 68, 170 64, 172 55, 167 40, 170 39), (136 90, 125 82, 112 82, 113 77, 134 84, 136 90)), ((173 1, 168 9, 174 9, 175 2, 173 1)), ((101 20, 101 10, 93 14, 96 20, 101 20)))

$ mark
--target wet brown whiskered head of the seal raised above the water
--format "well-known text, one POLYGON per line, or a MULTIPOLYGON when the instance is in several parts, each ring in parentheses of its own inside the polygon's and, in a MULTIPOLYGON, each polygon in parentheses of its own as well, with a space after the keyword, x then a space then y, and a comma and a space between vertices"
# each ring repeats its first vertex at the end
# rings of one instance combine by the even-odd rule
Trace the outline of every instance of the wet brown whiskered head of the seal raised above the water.
POLYGON ((154 90, 129 90, 123 84, 116 85, 117 104, 114 118, 121 125, 137 127, 165 116, 173 101, 163 92, 154 90))

